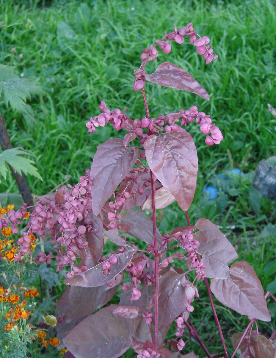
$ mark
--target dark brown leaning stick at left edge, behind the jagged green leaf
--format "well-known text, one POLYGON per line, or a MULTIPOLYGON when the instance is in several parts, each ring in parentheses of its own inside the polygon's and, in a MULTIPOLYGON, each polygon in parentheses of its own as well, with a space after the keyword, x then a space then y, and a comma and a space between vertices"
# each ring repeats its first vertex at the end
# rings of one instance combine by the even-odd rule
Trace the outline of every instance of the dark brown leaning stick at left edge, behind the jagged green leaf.
MULTIPOLYGON (((11 145, 8 131, 6 129, 5 119, 4 117, 1 116, 1 113, 0 113, 0 144, 3 150, 13 148, 13 146, 11 145)), ((30 191, 25 175, 23 173, 22 175, 19 175, 14 171, 13 167, 11 167, 10 165, 9 167, 11 173, 13 173, 14 179, 16 180, 16 184, 18 186, 20 194, 23 197, 24 203, 26 203, 28 206, 34 205, 32 193, 30 191)))

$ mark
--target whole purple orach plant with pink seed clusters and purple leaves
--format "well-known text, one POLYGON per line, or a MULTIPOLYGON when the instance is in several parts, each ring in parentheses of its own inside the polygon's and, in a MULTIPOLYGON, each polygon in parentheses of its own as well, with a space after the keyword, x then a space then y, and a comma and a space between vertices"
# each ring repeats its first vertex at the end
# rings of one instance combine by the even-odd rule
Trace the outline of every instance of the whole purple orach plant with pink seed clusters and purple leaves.
MULTIPOLYGON (((195 284, 199 280, 206 284, 225 358, 229 355, 211 292, 220 303, 251 319, 244 334, 233 338, 232 358, 237 349, 248 351, 249 345, 256 356, 263 349, 274 357, 271 341, 258 332, 256 323, 257 319, 271 319, 266 304, 270 293, 264 296, 261 282, 246 261, 228 267, 238 255, 215 224, 199 218, 192 225, 189 219, 198 156, 192 136, 183 127, 194 121, 199 124, 200 131, 207 135, 208 146, 223 140, 221 131, 210 115, 196 106, 157 118, 149 113, 147 82, 210 99, 194 78, 172 63, 162 63, 151 74, 145 70, 147 62, 154 62, 158 56, 157 45, 168 54, 170 42, 181 44, 185 36, 190 37, 206 64, 218 58, 208 45, 210 39, 200 37, 192 23, 165 33, 161 40, 155 40, 155 45, 143 49, 142 64, 134 72, 133 90, 141 90, 145 113, 141 119, 131 119, 127 108, 110 110, 101 101, 100 113, 86 123, 87 131, 94 133, 110 122, 116 130, 127 131, 124 139, 112 138, 99 145, 91 169, 85 170, 78 184, 37 197, 28 232, 18 241, 22 248, 16 260, 24 261, 30 252, 27 235, 37 233, 44 240, 49 235, 56 250, 57 271, 67 270, 64 283, 68 286, 57 303, 57 331, 70 357, 115 358, 131 346, 137 358, 184 357, 179 352, 185 349, 187 335, 198 340, 209 358, 213 357, 190 317, 196 307, 192 303, 199 297, 195 284), (136 144, 130 145, 132 142, 136 144), (175 200, 185 212, 188 226, 161 235, 156 210, 175 200), (133 211, 135 207, 152 210, 152 218, 133 211), (127 233, 128 239, 119 232, 127 233), (104 238, 118 246, 107 258, 102 256, 104 238), (141 241, 147 244, 146 250, 142 250, 141 241), (177 267, 182 260, 186 265, 177 267), (119 305, 106 306, 117 289, 122 289, 119 305), (165 342, 175 323, 176 338, 165 342), (252 333, 253 324, 256 334, 252 333)), ((23 204, 18 212, 8 213, 13 231, 25 210, 23 204)), ((0 217, 0 225, 6 227, 8 219, 0 217)), ((35 261, 49 263, 51 259, 52 253, 40 252, 35 261)))

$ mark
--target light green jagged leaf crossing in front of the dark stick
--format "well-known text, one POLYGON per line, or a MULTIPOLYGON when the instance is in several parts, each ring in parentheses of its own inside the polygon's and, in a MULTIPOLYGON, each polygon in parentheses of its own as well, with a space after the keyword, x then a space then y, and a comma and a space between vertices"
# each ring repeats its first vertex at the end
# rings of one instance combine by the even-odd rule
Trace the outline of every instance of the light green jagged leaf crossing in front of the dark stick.
POLYGON ((23 171, 24 174, 30 174, 43 180, 39 175, 37 168, 32 165, 34 162, 28 158, 20 156, 20 154, 28 155, 29 153, 20 150, 19 148, 7 149, 0 153, 0 183, 1 175, 6 179, 6 173, 8 171, 6 163, 12 166, 16 173, 19 173, 20 175, 23 171))

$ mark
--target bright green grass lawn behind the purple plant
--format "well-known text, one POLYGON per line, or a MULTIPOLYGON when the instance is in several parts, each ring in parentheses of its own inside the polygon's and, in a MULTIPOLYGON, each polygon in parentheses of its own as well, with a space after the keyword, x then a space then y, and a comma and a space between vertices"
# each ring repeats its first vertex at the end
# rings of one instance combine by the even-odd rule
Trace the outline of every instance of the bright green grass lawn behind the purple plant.
MULTIPOLYGON (((210 37, 218 60, 206 66, 203 56, 186 39, 182 45, 172 43, 171 53, 160 53, 147 65, 147 71, 154 71, 164 61, 183 67, 208 91, 210 102, 188 92, 147 84, 150 113, 156 117, 196 105, 222 130, 222 143, 206 147, 198 126, 187 126, 199 156, 198 188, 190 216, 192 222, 204 216, 220 224, 236 245, 240 260, 253 265, 266 288, 274 279, 264 268, 276 257, 275 234, 261 238, 259 233, 268 223, 275 223, 275 203, 258 198, 249 179, 235 178, 230 187, 219 186, 215 201, 206 199, 201 191, 216 174, 232 169, 227 149, 235 168, 241 168, 244 160, 244 173, 254 170, 261 159, 275 155, 276 120, 267 111, 267 103, 276 107, 273 4, 269 0, 56 0, 46 1, 45 7, 43 2, 36 5, 35 1, 0 0, 0 63, 15 66, 18 74, 40 83, 46 92, 29 102, 33 117, 28 118, 7 109, 0 99, 0 112, 13 145, 36 156, 43 182, 28 177, 32 192, 45 194, 66 175, 71 175, 71 184, 77 183, 84 169, 90 168, 96 146, 118 135, 111 126, 97 129, 94 135, 86 133, 85 122, 99 113, 101 100, 110 109, 128 107, 133 119, 144 116, 141 93, 132 91, 132 73, 140 66, 142 49, 161 38, 165 30, 171 32, 174 25, 181 28, 192 21, 200 35, 210 37), (65 39, 66 33, 71 34, 70 39, 65 39), (15 53, 11 52, 14 47, 15 53), (231 188, 241 192, 232 195, 231 188), (235 225, 235 229, 227 228, 229 225, 235 225)), ((0 184, 0 192, 16 191, 9 175, 0 184)), ((160 212, 162 231, 170 231, 183 221, 183 213, 174 204, 160 212)), ((221 348, 219 338, 210 334, 214 322, 205 293, 203 289, 193 316, 195 325, 201 327, 202 339, 215 352, 221 348)), ((246 321, 230 310, 218 309, 218 313, 225 332, 230 326, 229 334, 234 328, 241 330, 246 321)), ((272 324, 263 327, 263 332, 272 330, 272 324)), ((195 343, 191 345, 196 347, 195 343)))

